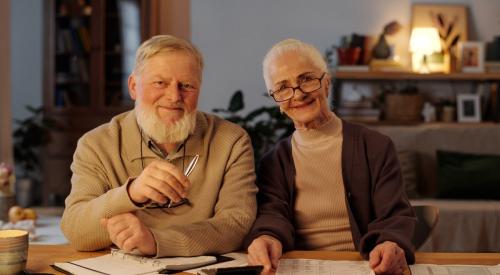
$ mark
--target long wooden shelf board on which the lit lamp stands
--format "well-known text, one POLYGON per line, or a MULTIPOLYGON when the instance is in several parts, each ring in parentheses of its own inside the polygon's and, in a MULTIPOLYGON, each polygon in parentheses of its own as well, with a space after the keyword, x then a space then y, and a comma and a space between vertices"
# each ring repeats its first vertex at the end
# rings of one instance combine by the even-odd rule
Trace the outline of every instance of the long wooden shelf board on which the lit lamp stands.
POLYGON ((428 81, 500 81, 500 73, 430 73, 411 72, 348 72, 333 71, 334 79, 339 80, 428 80, 428 81))

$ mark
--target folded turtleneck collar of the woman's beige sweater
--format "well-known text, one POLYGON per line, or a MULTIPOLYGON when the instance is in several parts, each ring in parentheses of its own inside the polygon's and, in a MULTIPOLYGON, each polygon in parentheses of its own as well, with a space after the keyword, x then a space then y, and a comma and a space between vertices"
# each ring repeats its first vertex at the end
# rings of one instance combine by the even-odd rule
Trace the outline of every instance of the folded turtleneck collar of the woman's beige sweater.
POLYGON ((342 136, 342 120, 334 113, 330 119, 314 129, 297 129, 293 133, 293 139, 298 145, 314 145, 332 137, 342 136))

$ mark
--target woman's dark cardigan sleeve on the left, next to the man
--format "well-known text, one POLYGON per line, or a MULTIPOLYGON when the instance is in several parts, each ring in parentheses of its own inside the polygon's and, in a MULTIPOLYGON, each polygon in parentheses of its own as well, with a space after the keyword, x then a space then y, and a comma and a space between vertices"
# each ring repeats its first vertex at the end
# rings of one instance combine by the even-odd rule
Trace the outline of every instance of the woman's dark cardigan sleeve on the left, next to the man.
POLYGON ((257 171, 257 219, 245 238, 244 246, 261 235, 278 239, 284 251, 292 250, 295 243, 295 229, 292 224, 292 194, 287 181, 287 171, 292 163, 286 157, 283 142, 268 152, 260 161, 257 171), (281 148, 280 148, 281 146, 281 148))

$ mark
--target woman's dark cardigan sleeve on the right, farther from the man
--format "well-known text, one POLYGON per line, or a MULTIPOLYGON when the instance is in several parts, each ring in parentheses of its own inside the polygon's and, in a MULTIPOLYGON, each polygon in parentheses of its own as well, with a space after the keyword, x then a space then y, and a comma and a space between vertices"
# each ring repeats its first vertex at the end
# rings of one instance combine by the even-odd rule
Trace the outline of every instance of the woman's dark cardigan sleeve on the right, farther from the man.
POLYGON ((372 182, 372 202, 375 219, 368 224, 360 241, 361 254, 368 258, 370 251, 384 241, 397 243, 404 251, 408 264, 415 262, 411 236, 416 223, 415 214, 402 184, 401 170, 394 144, 389 138, 369 144, 374 148, 369 162, 372 182))

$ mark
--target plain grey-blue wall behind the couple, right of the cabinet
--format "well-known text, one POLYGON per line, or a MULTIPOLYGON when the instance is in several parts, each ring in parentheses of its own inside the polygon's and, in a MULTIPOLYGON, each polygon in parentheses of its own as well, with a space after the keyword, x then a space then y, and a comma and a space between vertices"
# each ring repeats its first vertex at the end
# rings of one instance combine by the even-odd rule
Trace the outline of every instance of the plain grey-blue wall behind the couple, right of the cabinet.
POLYGON ((473 19, 470 39, 500 35, 498 0, 191 0, 191 38, 206 59, 200 109, 226 107, 238 89, 245 93, 247 110, 273 104, 262 96, 261 61, 284 38, 307 41, 323 52, 342 35, 377 35, 389 21, 398 20, 404 29, 397 42, 404 52, 411 5, 418 2, 467 4, 473 19))

